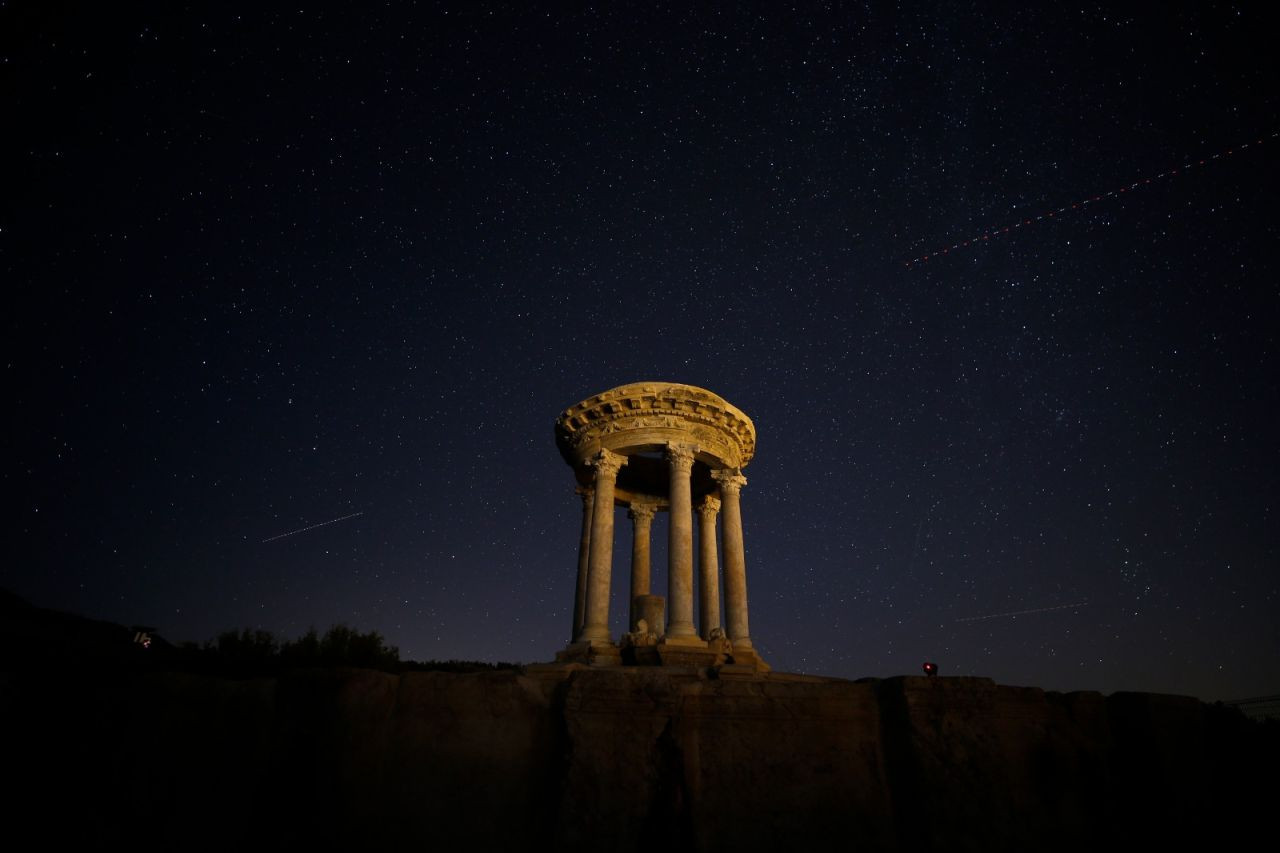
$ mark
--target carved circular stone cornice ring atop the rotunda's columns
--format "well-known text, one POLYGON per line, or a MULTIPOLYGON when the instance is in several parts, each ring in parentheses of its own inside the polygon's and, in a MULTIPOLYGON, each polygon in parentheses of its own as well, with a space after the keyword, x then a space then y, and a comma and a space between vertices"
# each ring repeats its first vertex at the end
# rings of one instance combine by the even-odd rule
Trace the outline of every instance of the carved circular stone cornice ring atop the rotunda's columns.
POLYGON ((694 386, 639 382, 570 406, 556 421, 556 443, 575 467, 602 448, 658 450, 695 443, 719 467, 744 467, 755 455, 755 425, 741 410, 694 386))

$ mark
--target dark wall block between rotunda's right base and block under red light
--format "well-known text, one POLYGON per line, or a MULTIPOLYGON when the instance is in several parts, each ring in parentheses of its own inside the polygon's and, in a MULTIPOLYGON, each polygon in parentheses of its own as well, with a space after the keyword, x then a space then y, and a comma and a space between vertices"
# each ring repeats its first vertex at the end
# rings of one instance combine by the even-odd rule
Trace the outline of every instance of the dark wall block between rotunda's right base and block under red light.
POLYGON ((786 849, 838 839, 892 844, 873 688, 849 681, 714 680, 684 690, 673 742, 694 848, 786 849))

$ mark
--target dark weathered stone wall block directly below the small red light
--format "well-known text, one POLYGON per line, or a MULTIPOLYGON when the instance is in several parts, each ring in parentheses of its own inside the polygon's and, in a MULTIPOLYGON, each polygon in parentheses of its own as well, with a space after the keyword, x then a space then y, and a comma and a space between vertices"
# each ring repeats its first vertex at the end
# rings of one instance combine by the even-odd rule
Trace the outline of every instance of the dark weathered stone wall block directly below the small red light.
POLYGON ((1043 849, 1084 843, 1107 816, 1110 730, 1100 694, 1047 694, 989 679, 878 685, 895 830, 909 848, 1043 849))

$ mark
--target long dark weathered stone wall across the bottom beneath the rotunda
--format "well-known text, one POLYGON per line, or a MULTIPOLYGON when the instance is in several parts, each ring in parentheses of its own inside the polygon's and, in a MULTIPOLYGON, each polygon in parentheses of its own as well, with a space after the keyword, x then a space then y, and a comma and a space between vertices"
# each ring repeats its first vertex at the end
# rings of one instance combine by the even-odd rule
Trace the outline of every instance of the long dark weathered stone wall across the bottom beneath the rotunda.
POLYGON ((1216 848, 1263 825, 1280 757, 1196 699, 986 679, 10 672, 0 697, 10 825, 96 845, 1216 848))

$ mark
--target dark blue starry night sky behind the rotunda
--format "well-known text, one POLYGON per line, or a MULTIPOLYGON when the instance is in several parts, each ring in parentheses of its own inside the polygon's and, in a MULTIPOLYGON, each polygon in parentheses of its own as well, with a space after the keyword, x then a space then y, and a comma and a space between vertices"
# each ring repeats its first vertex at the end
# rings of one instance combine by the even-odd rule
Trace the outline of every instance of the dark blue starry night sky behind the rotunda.
POLYGON ((774 669, 1280 689, 1263 4, 124 5, 0 3, 0 587, 547 661, 667 379, 774 669))

